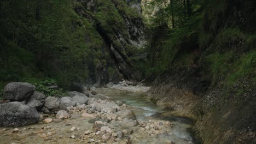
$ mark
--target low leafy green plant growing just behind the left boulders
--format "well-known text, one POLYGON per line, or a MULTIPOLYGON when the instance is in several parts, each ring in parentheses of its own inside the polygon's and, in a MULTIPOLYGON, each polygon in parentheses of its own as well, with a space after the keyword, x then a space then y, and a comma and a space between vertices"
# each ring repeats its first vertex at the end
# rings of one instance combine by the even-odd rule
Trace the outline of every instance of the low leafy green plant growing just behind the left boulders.
POLYGON ((62 88, 49 88, 49 86, 56 86, 57 82, 53 79, 48 79, 40 82, 35 82, 36 91, 42 92, 47 97, 65 97, 66 92, 62 88))

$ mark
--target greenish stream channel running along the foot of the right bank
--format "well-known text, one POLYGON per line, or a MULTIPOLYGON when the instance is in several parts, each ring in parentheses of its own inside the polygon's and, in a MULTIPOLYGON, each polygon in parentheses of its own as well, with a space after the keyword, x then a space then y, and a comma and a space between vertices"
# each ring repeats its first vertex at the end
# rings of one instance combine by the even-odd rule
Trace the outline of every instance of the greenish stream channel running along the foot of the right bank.
POLYGON ((110 100, 121 100, 126 105, 130 106, 129 109, 135 112, 139 123, 149 121, 150 119, 164 119, 173 124, 173 127, 170 129, 171 134, 159 135, 158 138, 152 139, 150 136, 147 137, 147 139, 143 139, 143 137, 142 139, 138 139, 137 137, 133 139, 133 136, 131 136, 133 143, 159 143, 166 140, 170 140, 176 144, 197 143, 191 134, 190 129, 192 124, 189 119, 175 116, 160 118, 158 114, 166 112, 166 110, 164 107, 155 105, 152 101, 144 98, 145 94, 124 92, 113 88, 102 88, 100 91, 102 94, 110 97, 110 100))

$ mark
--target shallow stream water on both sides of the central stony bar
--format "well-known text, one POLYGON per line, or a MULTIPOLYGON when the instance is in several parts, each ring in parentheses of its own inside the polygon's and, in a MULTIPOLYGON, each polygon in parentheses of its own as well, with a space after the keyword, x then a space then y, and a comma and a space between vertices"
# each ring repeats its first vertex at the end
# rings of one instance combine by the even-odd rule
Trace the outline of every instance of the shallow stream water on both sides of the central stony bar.
MULTIPOLYGON (((132 109, 135 112, 138 122, 148 122, 150 119, 161 119, 158 117, 158 114, 165 112, 164 107, 157 106, 146 100, 143 98, 143 94, 123 92, 113 88, 102 88, 99 89, 98 92, 107 95, 110 97, 110 100, 123 101, 128 105, 129 109, 132 109)), ((93 124, 89 122, 90 119, 81 117, 81 114, 82 113, 74 113, 70 119, 59 120, 56 122, 54 120, 52 123, 43 123, 41 120, 37 124, 20 127, 18 133, 14 133, 13 128, 0 128, 0 143, 87 143, 87 141, 92 138, 101 140, 101 135, 84 135, 86 130, 92 130, 93 124), (72 127, 77 128, 77 130, 71 131, 70 129, 72 127), (72 135, 75 136, 74 139, 70 138, 72 135)), ((49 115, 49 117, 54 119, 55 115, 49 115)), ((171 121, 172 127, 170 126, 166 128, 166 134, 153 136, 146 132, 142 133, 142 131, 139 131, 141 127, 134 127, 138 130, 130 135, 132 143, 194 143, 193 137, 188 132, 191 125, 186 122, 186 119, 177 117, 172 117, 170 119, 173 119, 171 121)), ((115 124, 115 122, 113 124, 115 124)), ((112 123, 109 123, 109 127, 115 126, 112 125, 112 123)))

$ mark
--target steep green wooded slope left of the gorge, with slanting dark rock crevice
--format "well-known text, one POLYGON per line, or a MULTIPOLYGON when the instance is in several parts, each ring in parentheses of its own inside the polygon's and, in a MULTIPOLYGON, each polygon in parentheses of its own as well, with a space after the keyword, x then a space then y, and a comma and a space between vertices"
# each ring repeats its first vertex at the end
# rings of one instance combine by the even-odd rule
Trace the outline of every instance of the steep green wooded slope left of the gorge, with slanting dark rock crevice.
POLYGON ((132 75, 144 45, 137 1, 1 1, 1 88, 46 77, 102 85, 132 75))

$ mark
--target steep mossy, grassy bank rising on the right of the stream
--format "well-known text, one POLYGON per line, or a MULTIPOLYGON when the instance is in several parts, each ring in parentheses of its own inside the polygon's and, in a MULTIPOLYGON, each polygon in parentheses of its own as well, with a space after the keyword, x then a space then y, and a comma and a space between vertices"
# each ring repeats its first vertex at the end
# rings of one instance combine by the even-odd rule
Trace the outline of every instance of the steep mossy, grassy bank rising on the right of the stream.
POLYGON ((153 37, 149 97, 195 118, 203 143, 256 143, 255 1, 204 1, 180 27, 153 37), (154 54, 153 54, 154 53, 154 54))

